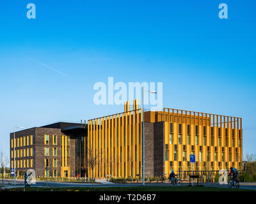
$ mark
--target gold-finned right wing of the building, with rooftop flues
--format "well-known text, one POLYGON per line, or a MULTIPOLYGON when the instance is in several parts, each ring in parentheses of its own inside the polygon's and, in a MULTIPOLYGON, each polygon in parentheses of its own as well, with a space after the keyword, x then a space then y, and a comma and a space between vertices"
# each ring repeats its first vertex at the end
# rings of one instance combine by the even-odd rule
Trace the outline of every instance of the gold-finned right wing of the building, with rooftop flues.
MULTIPOLYGON (((88 149, 99 156, 95 177, 141 177, 143 114, 134 101, 122 113, 88 120, 88 149)), ((221 170, 242 161, 242 119, 211 113, 164 108, 145 112, 145 176, 171 170, 221 170), (207 159, 209 158, 209 160, 207 159), (209 162, 208 162, 209 161, 209 162)), ((88 157, 88 155, 86 156, 88 157)), ((89 177, 92 171, 88 169, 89 177)))

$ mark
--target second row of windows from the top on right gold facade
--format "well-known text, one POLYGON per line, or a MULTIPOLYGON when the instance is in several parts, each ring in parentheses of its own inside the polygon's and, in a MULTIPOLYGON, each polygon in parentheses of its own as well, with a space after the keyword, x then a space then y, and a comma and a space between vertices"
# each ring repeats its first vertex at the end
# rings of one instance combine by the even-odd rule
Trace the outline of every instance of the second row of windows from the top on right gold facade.
MULTIPOLYGON (((182 135, 178 135, 178 143, 179 145, 182 144, 182 140, 186 140, 185 143, 187 143, 187 145, 191 145, 191 135, 187 135, 187 138, 182 136, 182 135)), ((225 138, 225 147, 228 147, 228 138, 225 138)), ((232 138, 232 147, 235 147, 236 145, 236 140, 235 138, 232 138)), ((203 136, 203 145, 207 145, 207 140, 206 140, 206 136, 203 136)), ((173 133, 170 133, 170 144, 173 144, 173 133)), ((199 145, 199 136, 196 135, 195 136, 195 145, 199 145)), ((214 146, 214 136, 211 136, 211 146, 214 146)), ((218 146, 221 147, 221 138, 218 138, 218 146)), ((241 147, 241 139, 238 140, 238 146, 241 147)))

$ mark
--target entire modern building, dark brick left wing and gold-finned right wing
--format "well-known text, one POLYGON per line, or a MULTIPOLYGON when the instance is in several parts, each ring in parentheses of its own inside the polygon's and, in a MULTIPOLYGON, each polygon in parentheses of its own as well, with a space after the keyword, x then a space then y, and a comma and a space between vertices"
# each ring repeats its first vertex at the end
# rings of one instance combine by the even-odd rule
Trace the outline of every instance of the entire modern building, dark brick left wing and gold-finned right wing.
MULTIPOLYGON (((145 112, 145 176, 171 170, 221 170, 242 165, 242 119, 211 113, 163 108, 145 112)), ((124 112, 88 120, 88 124, 58 122, 10 134, 11 166, 21 175, 92 177, 88 161, 97 160, 95 178, 141 177, 143 112, 138 100, 124 112), (14 151, 15 147, 15 151, 14 151)))

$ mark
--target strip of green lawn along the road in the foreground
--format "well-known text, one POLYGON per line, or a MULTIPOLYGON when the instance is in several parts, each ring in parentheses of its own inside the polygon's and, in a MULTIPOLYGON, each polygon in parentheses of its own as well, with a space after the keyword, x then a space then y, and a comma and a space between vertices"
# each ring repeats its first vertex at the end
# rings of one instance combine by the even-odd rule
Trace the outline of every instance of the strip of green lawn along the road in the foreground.
MULTIPOLYGON (((15 188, 12 191, 24 191, 24 188, 15 188)), ((138 186, 138 187, 26 187, 25 191, 250 191, 247 189, 228 189, 228 187, 203 186, 138 186)))

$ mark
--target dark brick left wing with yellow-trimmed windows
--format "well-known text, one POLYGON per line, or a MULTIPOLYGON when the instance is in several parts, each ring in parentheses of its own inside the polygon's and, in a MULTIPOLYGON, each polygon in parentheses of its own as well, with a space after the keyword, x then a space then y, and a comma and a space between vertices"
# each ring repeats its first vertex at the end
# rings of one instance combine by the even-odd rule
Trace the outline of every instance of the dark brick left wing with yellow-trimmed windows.
POLYGON ((17 175, 35 170, 40 177, 76 177, 84 174, 83 142, 86 124, 57 122, 10 133, 11 168, 17 175), (15 150, 14 150, 15 149, 15 150))

